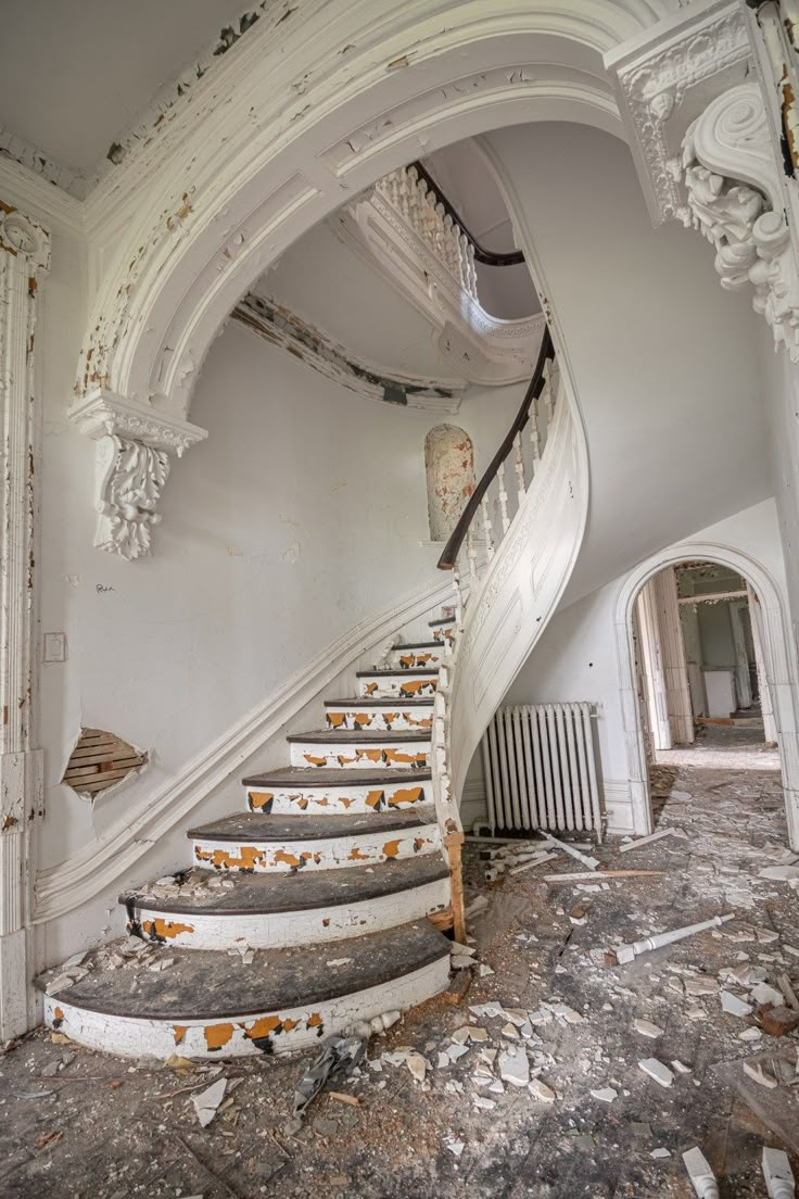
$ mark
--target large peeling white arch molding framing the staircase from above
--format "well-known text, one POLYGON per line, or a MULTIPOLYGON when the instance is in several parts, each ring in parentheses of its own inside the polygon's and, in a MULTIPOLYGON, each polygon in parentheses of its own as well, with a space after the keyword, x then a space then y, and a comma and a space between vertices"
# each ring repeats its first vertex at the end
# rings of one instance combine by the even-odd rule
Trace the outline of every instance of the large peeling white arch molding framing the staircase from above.
MULTIPOLYGON (((601 55, 673 7, 309 0, 302 37, 289 19, 250 29, 193 86, 192 104, 176 104, 90 198, 103 270, 72 415, 98 440, 125 440, 117 411, 128 426, 150 424, 143 444, 157 453, 138 460, 159 468, 122 519, 155 523, 164 456, 205 436, 187 417, 207 349, 292 241, 382 175, 462 137, 537 120, 619 134, 601 55)), ((114 494, 125 493, 127 481, 116 482, 114 494)), ((109 502, 98 494, 101 516, 109 502)), ((97 544, 119 552, 140 540, 98 531, 97 544)))

